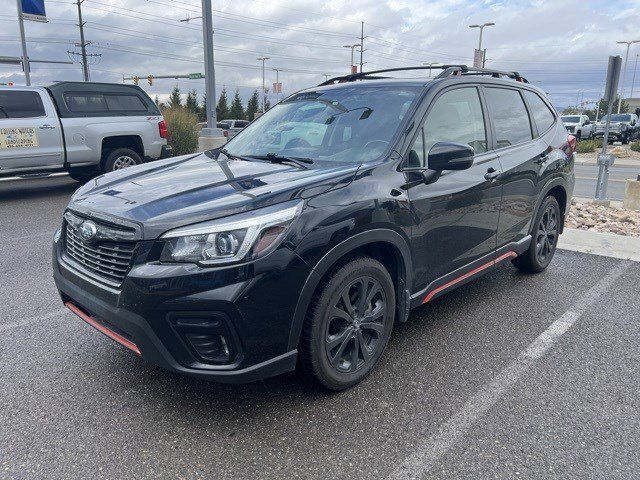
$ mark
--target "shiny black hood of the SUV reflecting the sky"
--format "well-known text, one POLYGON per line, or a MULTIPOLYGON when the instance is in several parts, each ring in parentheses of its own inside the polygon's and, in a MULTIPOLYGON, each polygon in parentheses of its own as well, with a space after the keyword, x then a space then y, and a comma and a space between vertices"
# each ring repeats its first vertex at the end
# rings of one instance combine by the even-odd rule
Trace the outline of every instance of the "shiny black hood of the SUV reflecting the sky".
POLYGON ((81 187, 69 208, 134 222, 150 239, 176 227, 313 197, 347 185, 358 167, 325 162, 303 169, 196 154, 102 175, 81 187))

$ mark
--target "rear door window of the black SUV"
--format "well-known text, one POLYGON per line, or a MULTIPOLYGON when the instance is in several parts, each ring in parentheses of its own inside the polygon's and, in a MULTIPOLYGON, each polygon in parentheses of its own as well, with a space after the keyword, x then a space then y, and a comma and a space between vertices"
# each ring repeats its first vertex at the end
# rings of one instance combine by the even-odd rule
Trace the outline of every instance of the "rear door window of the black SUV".
POLYGON ((531 124, 524 102, 517 90, 487 88, 489 113, 496 132, 498 148, 531 140, 531 124))

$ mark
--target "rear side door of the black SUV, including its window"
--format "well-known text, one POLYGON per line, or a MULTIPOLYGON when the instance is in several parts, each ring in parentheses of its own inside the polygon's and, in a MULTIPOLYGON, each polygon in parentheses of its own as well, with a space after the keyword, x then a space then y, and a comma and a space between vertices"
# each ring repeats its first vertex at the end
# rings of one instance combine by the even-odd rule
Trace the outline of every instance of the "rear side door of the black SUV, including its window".
MULTIPOLYGON (((503 196, 498 226, 498 247, 502 247, 529 234, 540 172, 550 149, 538 135, 533 115, 529 115, 520 89, 488 86, 483 89, 502 166, 503 196)), ((539 107, 541 99, 537 95, 536 98, 539 107)), ((532 102, 534 100, 532 97, 532 102)), ((544 103, 542 106, 551 114, 544 103)), ((535 110, 537 114, 544 113, 539 108, 535 110)), ((553 122, 553 116, 551 120, 553 122)))

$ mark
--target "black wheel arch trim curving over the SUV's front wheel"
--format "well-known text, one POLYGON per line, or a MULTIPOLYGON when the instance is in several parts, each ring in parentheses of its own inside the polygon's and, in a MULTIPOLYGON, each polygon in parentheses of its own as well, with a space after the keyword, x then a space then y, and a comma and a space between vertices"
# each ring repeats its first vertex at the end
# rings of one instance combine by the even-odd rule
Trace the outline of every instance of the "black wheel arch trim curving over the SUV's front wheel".
POLYGON ((322 278, 333 267, 358 254, 371 256, 387 268, 396 287, 396 319, 406 320, 410 308, 409 292, 413 278, 409 244, 402 235, 394 230, 367 230, 334 246, 311 270, 298 296, 289 332, 289 350, 298 347, 309 303, 322 278))

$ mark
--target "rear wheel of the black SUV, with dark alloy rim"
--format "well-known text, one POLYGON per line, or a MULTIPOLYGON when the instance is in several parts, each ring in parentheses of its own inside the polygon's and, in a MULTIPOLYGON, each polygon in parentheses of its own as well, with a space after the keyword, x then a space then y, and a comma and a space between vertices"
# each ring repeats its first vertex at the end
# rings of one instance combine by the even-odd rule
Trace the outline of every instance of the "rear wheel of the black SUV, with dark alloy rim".
POLYGON ((558 201, 555 197, 546 197, 533 223, 531 245, 526 252, 512 261, 513 265, 527 273, 545 270, 556 253, 558 230, 563 222, 558 201))

